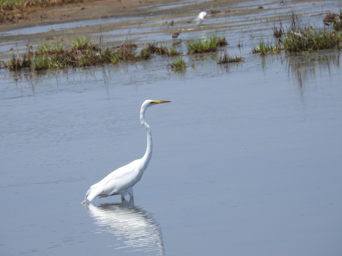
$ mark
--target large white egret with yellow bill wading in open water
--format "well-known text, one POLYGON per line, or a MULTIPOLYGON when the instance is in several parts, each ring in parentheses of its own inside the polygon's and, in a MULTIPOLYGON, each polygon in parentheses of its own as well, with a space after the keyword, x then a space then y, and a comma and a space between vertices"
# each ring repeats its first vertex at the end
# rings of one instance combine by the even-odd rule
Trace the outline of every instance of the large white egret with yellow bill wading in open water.
POLYGON ((85 201, 93 200, 95 197, 107 197, 114 195, 121 195, 121 199, 129 194, 133 197, 133 185, 140 181, 149 160, 152 156, 152 134, 149 125, 145 121, 145 111, 149 106, 166 103, 170 101, 160 100, 145 100, 140 110, 140 122, 145 128, 147 133, 147 148, 145 155, 141 159, 134 160, 128 165, 122 166, 116 169, 112 173, 108 174, 103 180, 92 185, 86 193, 85 201))

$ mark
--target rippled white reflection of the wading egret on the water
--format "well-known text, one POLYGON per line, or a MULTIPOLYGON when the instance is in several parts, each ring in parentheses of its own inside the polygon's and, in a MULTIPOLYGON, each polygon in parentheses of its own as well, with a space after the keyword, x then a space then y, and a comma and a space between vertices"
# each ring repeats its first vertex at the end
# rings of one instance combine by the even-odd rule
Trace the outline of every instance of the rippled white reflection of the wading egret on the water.
POLYGON ((126 252, 155 251, 155 255, 164 255, 159 223, 152 213, 134 206, 133 198, 130 201, 123 199, 121 203, 99 206, 90 203, 86 207, 95 219, 95 224, 101 227, 96 230, 97 233, 113 233, 116 236, 113 244, 116 249, 126 248, 126 252))

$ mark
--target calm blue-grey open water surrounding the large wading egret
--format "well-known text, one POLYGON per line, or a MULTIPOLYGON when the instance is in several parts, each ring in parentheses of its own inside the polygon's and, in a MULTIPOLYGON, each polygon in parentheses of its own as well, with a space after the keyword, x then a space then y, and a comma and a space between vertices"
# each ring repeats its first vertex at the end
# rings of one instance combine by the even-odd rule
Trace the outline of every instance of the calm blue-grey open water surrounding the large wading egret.
POLYGON ((1 255, 341 253, 341 53, 184 58, 1 70, 1 255), (134 202, 81 205, 144 154, 145 99, 134 202))

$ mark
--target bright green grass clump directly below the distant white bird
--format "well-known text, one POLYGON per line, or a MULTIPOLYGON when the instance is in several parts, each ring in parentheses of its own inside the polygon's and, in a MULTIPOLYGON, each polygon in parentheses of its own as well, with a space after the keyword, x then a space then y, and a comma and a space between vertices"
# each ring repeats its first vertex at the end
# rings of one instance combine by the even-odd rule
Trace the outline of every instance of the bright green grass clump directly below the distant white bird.
POLYGON ((216 52, 219 46, 227 44, 225 37, 211 36, 208 39, 191 39, 186 42, 189 54, 216 52))

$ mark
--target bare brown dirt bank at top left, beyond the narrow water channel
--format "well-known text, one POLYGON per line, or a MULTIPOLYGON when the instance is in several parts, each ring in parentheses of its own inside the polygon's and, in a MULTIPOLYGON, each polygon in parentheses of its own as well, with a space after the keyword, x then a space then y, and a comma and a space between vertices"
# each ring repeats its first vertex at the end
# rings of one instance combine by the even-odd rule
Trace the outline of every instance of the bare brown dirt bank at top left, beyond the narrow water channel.
MULTIPOLYGON (((247 0, 227 0, 227 5, 247 0)), ((174 1, 177 3, 178 1, 174 1)), ((207 8, 214 1, 201 3, 197 8, 207 8)), ((15 10, 0 11, 0 31, 17 28, 66 23, 87 19, 122 17, 122 16, 147 16, 150 15, 153 6, 170 3, 169 0, 81 0, 79 2, 67 3, 54 6, 23 6, 15 10), (151 8, 146 8, 151 6, 151 8)), ((218 3, 218 2, 216 2, 218 3)), ((173 9, 174 11, 175 9, 173 9)), ((182 10, 183 12, 186 10, 182 10)), ((171 14, 169 10, 154 11, 154 14, 171 14)))

